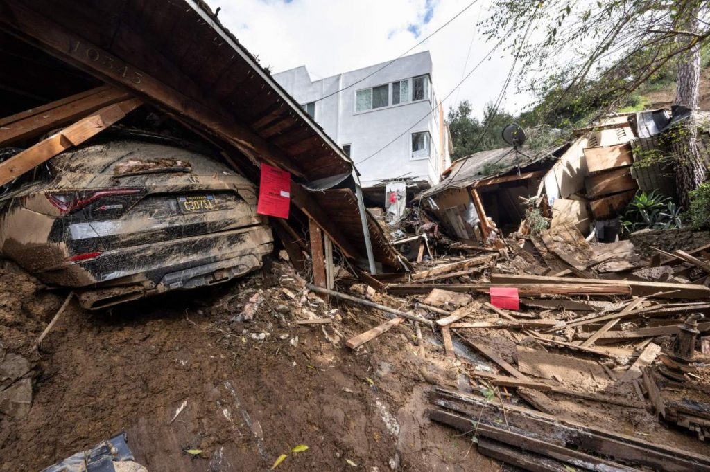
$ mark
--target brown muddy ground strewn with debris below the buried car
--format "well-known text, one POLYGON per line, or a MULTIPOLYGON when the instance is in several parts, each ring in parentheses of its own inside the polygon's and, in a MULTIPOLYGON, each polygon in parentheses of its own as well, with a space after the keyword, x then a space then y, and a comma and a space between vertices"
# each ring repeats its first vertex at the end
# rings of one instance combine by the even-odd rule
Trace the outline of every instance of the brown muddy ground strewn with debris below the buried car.
MULTIPOLYGON (((0 421, 0 471, 41 470, 121 430, 151 472, 266 470, 298 444, 309 449, 288 454, 278 470, 510 470, 425 416, 432 384, 468 390, 464 372, 482 359, 446 359, 431 333, 422 359, 407 325, 353 352, 344 339, 378 325, 381 313, 306 296, 290 266, 269 265, 236 283, 100 313, 72 303, 41 359, 31 342, 65 293, 0 271, 4 347, 37 363, 28 416, 0 421), (333 322, 295 324, 312 317, 333 322)), ((364 286, 352 289, 368 296, 364 286)), ((503 330, 479 341, 510 345, 514 361, 503 330)), ((650 412, 555 399, 569 420, 710 453, 650 412)))

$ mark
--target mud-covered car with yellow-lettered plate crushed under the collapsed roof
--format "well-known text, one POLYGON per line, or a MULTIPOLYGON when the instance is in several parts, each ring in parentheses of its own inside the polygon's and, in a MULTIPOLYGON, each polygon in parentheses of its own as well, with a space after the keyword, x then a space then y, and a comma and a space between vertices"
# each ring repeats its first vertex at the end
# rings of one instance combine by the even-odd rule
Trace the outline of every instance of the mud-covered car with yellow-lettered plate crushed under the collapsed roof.
POLYGON ((38 175, 1 198, 0 252, 85 308, 224 282, 272 250, 254 186, 172 142, 99 142, 38 175))

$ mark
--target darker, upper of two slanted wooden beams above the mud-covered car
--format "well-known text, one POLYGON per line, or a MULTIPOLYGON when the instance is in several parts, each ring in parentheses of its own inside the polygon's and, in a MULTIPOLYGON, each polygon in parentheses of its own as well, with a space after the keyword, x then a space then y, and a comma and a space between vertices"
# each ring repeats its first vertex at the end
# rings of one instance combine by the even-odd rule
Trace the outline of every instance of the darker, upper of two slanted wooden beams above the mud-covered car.
POLYGON ((38 137, 84 118, 99 108, 130 98, 131 94, 126 91, 111 86, 100 86, 8 116, 0 120, 0 147, 38 137))

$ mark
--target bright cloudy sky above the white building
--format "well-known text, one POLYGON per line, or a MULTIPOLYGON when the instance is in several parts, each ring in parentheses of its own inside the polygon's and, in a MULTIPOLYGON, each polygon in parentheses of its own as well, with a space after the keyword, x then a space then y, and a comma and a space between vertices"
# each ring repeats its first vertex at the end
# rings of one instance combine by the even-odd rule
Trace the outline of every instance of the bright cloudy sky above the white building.
MULTIPOLYGON (((408 54, 429 50, 432 83, 442 99, 493 44, 476 23, 486 16, 479 0, 448 26, 408 54), (469 52, 470 51, 470 52, 469 52), (468 61, 466 59, 468 58, 468 61), (465 69, 464 69, 465 66, 465 69)), ((207 0, 219 20, 261 65, 282 72, 305 65, 312 79, 329 77, 398 57, 449 21, 471 0, 207 0)), ((444 101, 444 109, 469 100, 481 118, 486 103, 501 91, 513 56, 494 54, 444 101)), ((516 94, 511 82, 503 108, 523 111, 532 97, 516 94)))

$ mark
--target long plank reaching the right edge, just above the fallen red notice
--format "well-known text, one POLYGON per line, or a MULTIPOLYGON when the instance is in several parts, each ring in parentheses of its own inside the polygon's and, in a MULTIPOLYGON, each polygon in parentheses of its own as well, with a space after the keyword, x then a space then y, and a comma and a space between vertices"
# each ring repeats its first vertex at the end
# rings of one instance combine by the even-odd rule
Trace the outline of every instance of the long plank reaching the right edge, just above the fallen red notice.
POLYGON ((585 284, 603 286, 628 286, 631 294, 635 296, 655 295, 659 298, 710 298, 710 288, 689 283, 666 283, 648 282, 632 280, 608 280, 608 279, 575 279, 573 277, 549 277, 516 274, 493 274, 493 283, 564 283, 564 284, 585 284), (659 293, 663 292, 663 293, 659 293), (667 292, 667 293, 666 293, 667 292))

